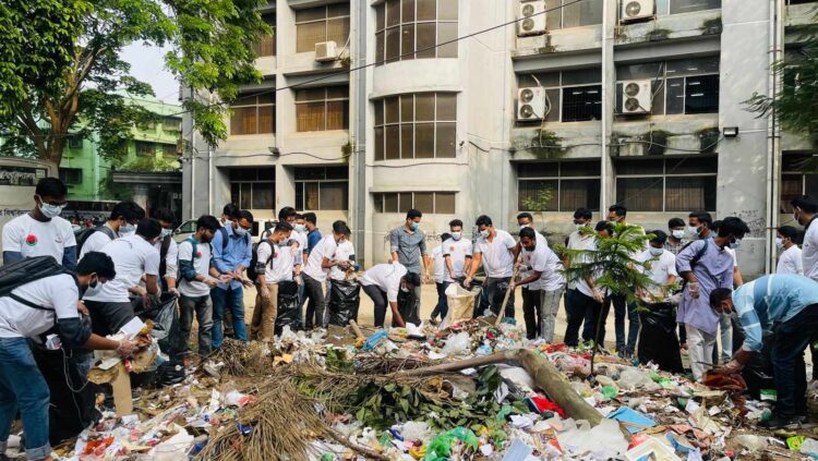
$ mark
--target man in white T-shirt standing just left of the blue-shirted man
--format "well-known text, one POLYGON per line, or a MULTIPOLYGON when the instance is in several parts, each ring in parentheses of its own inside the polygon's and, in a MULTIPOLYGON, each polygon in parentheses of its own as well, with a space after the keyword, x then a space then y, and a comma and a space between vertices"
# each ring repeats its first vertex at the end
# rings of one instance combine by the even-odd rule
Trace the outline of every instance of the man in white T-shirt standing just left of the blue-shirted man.
MULTIPOLYGON (((196 233, 179 244, 179 323, 185 348, 190 343, 193 316, 199 323, 199 354, 213 350, 213 302, 210 290, 219 281, 219 272, 210 265, 210 242, 219 230, 215 216, 204 215, 196 220, 196 233)), ((225 278, 227 279, 227 278, 225 278)))

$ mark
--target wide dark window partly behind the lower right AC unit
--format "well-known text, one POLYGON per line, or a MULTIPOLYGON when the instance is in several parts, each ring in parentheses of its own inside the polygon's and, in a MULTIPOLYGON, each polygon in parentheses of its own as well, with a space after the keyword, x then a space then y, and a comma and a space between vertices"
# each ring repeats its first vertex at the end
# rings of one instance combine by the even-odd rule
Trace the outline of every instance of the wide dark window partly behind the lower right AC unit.
POLYGON ((616 69, 616 111, 622 110, 623 81, 650 80, 651 113, 719 112, 719 57, 622 65, 616 69))

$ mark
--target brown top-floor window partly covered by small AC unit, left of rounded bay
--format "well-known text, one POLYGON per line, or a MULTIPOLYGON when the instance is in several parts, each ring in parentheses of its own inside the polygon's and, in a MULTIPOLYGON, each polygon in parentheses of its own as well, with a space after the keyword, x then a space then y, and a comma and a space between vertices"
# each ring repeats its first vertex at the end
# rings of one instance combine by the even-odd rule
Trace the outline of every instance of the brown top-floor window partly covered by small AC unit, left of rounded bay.
POLYGON ((296 11, 296 52, 315 51, 315 44, 335 41, 342 47, 349 37, 349 3, 296 11))

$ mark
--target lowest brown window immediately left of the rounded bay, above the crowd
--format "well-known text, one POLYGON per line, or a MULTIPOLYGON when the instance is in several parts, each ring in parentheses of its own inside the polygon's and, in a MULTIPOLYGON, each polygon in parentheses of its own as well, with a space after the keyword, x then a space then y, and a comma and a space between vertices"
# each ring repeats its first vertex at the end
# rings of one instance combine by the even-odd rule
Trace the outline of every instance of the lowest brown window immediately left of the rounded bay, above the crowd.
POLYGON ((296 208, 349 209, 349 168, 296 168, 296 208))

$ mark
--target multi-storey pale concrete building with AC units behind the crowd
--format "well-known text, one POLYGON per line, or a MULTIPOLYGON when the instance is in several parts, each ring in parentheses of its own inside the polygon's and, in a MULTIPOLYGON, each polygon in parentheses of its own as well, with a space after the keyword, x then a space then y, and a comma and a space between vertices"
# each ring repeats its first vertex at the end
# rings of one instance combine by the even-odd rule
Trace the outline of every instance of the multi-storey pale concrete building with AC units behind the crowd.
POLYGON ((750 225, 738 258, 760 274, 787 197, 815 183, 792 168, 815 145, 745 101, 775 93, 770 64, 797 57, 816 5, 270 2, 263 83, 234 102, 226 142, 192 135, 185 216, 232 201, 262 217, 316 211, 325 228, 344 218, 369 265, 410 207, 432 236, 479 214, 512 228, 538 211, 558 238, 578 207, 619 203, 647 229, 709 210, 750 225))

